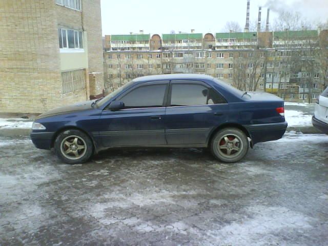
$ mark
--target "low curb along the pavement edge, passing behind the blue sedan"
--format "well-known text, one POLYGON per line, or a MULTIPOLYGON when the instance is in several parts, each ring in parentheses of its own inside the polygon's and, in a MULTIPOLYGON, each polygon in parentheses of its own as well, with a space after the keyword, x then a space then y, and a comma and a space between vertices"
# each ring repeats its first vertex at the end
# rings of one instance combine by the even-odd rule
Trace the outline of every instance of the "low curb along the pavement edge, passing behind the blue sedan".
MULTIPOLYGON (((0 137, 19 137, 19 136, 30 136, 31 129, 27 128, 17 128, 17 129, 0 129, 0 137)), ((317 134, 323 132, 319 131, 313 126, 306 126, 306 127, 288 127, 286 132, 301 132, 304 134, 317 134)))

